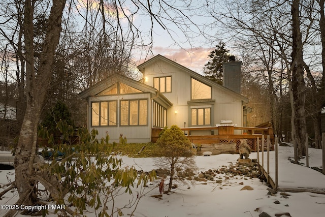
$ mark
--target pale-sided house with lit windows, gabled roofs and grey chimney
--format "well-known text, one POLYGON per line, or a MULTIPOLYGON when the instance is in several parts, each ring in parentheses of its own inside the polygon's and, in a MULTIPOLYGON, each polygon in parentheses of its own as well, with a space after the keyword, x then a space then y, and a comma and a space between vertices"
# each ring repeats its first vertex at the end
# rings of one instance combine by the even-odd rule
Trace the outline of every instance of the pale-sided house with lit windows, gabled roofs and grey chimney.
POLYGON ((87 127, 97 129, 99 138, 108 133, 110 141, 118 141, 123 134, 128 142, 150 142, 154 130, 165 126, 215 127, 222 120, 243 126, 248 99, 240 94, 241 62, 223 67, 228 87, 164 56, 154 56, 138 66, 143 74, 140 81, 114 74, 81 92, 88 103, 87 127))

